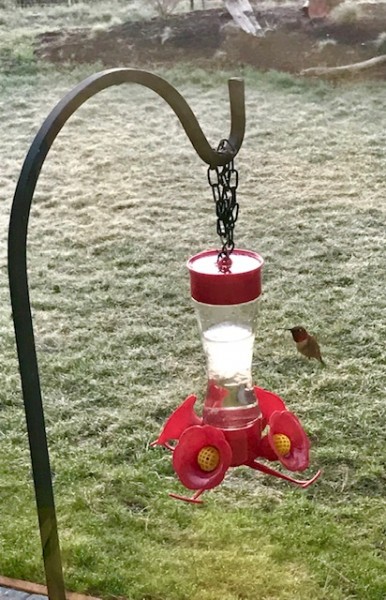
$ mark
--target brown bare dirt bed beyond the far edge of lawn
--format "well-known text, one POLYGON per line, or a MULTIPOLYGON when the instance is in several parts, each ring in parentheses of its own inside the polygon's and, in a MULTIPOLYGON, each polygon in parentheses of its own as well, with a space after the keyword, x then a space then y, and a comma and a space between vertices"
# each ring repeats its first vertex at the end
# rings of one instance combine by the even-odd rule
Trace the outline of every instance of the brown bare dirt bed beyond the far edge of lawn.
MULTIPOLYGON (((310 21, 298 5, 258 11, 257 17, 267 28, 260 38, 237 29, 225 10, 206 10, 129 22, 107 31, 48 32, 39 36, 36 55, 53 62, 100 61, 105 66, 193 60, 298 73, 309 67, 359 62, 386 52, 386 47, 376 43, 386 31, 384 3, 363 5, 363 15, 356 23, 310 21)), ((369 74, 386 78, 386 67, 378 66, 366 76, 369 74)))

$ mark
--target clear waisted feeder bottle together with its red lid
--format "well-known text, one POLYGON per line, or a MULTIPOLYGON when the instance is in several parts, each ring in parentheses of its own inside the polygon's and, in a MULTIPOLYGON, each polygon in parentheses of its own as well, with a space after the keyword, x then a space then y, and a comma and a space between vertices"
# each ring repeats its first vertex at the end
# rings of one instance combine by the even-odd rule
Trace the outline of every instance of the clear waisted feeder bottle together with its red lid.
POLYGON ((259 418, 252 358, 263 259, 249 250, 219 258, 209 250, 188 261, 191 296, 207 360, 203 419, 238 429, 259 418))

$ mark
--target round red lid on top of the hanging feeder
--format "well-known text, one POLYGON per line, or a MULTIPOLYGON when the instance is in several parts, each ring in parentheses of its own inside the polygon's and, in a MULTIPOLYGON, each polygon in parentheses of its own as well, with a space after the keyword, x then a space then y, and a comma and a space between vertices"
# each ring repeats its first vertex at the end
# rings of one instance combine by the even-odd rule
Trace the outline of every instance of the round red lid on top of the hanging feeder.
POLYGON ((203 304, 242 304, 261 294, 263 259, 250 250, 234 250, 229 267, 221 269, 217 250, 192 256, 187 263, 192 298, 203 304))

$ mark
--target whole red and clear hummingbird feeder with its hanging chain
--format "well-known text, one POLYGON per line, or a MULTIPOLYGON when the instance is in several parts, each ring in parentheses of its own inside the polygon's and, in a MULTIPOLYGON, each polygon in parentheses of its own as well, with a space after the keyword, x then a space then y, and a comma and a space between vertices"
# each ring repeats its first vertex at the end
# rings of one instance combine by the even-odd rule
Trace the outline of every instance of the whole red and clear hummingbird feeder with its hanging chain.
POLYGON ((220 169, 209 167, 208 179, 222 249, 200 252, 187 263, 207 362, 203 411, 199 416, 195 411, 197 396, 188 396, 152 443, 172 452, 179 480, 194 490, 191 497, 170 496, 193 503, 201 503, 201 494, 219 485, 230 467, 246 465, 302 488, 321 473, 299 480, 258 460, 281 463, 288 471, 304 471, 309 466, 310 443, 284 401, 253 385, 253 346, 264 261, 256 252, 234 247, 239 206, 233 160, 220 169))

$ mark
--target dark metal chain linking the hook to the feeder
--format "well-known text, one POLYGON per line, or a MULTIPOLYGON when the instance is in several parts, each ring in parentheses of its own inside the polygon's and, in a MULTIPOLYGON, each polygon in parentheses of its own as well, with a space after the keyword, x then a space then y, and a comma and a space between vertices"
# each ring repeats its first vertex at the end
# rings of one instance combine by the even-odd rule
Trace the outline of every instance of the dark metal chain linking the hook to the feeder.
MULTIPOLYGON (((217 151, 224 152, 229 147, 231 146, 228 140, 221 140, 217 151)), ((219 235, 222 243, 222 248, 218 254, 218 262, 226 270, 231 262, 230 254, 232 254, 235 247, 233 231, 239 215, 239 205, 236 200, 239 174, 234 167, 233 159, 223 167, 209 167, 208 182, 212 188, 213 200, 216 206, 217 235, 219 235)))

